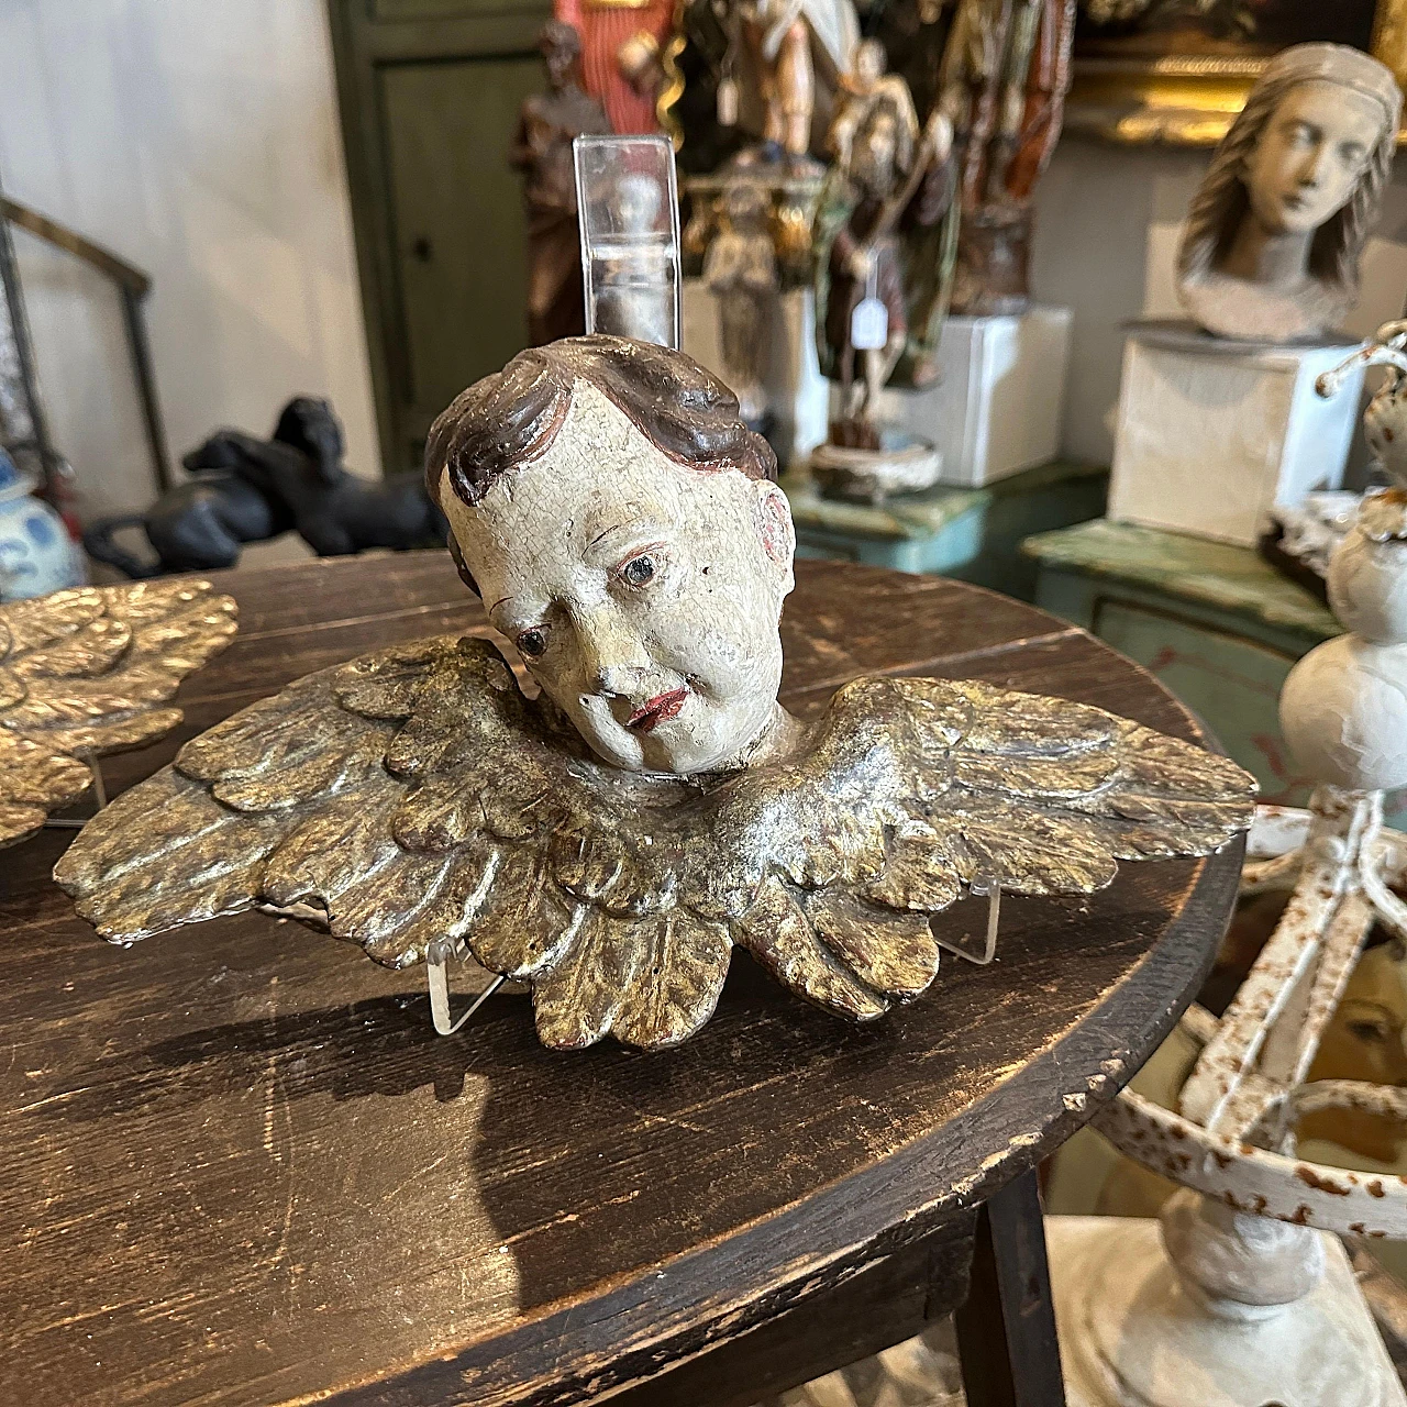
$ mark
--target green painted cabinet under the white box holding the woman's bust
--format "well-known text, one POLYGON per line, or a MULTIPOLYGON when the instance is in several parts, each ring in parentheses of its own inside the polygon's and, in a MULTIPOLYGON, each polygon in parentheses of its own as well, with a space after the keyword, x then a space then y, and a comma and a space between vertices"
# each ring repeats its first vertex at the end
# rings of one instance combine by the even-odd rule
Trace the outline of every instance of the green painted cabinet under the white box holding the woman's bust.
MULTIPOLYGON (((1265 801, 1304 803, 1310 781, 1280 737, 1279 694, 1296 660, 1339 633, 1318 599, 1248 547, 1107 519, 1024 550, 1037 605, 1158 675, 1255 774, 1265 801)), ((1407 810, 1392 819, 1401 827, 1407 810)))

